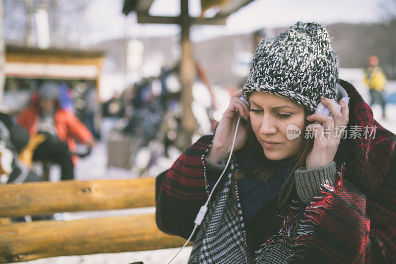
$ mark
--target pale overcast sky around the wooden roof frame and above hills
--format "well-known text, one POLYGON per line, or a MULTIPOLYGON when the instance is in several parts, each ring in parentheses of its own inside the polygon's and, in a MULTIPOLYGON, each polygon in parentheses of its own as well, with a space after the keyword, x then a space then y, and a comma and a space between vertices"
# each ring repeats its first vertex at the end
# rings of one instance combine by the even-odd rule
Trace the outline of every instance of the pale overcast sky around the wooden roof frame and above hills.
MULTIPOLYGON (((262 27, 289 27, 297 21, 322 24, 376 22, 383 17, 384 3, 391 0, 255 0, 232 14, 226 26, 195 26, 192 39, 199 41, 224 34, 251 32, 262 27)), ((93 30, 89 42, 132 37, 175 35, 177 25, 137 24, 136 15, 121 13, 124 0, 95 0, 86 11, 93 30), (125 27, 125 25, 127 25, 125 27)), ((200 14, 200 0, 189 0, 190 15, 200 14)), ((154 0, 151 15, 177 16, 180 0, 154 0)))

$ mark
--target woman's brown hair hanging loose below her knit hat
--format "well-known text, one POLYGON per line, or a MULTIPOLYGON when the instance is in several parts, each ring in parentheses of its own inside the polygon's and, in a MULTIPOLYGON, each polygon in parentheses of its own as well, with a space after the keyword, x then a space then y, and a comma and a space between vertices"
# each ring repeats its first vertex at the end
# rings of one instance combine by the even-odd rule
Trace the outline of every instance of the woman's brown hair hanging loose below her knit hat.
MULTIPOLYGON (((306 117, 309 114, 312 114, 312 112, 304 108, 304 119, 305 119, 304 128, 306 128, 307 125, 312 123, 312 122, 309 122, 308 120, 306 120, 306 117)), ((258 143, 257 138, 255 137, 253 130, 251 128, 250 120, 248 120, 247 128, 248 128, 247 140, 249 141, 251 146, 253 146, 253 148, 256 148, 257 150, 262 152, 263 151, 262 147, 261 147, 260 143, 258 143)), ((305 129, 304 129, 304 131, 301 132, 301 135, 303 137, 301 147, 298 149, 297 154, 293 158, 290 158, 287 160, 270 160, 268 158, 264 158, 260 163, 255 163, 252 166, 249 166, 249 168, 247 168, 247 169, 237 170, 234 173, 234 178, 241 179, 241 178, 250 177, 250 176, 254 175, 255 177, 258 177, 259 179, 266 181, 272 176, 272 174, 276 168, 276 165, 293 166, 292 171, 290 172, 287 180, 285 181, 285 183, 283 184, 283 186, 279 192, 279 197, 278 197, 278 210, 279 210, 288 201, 290 194, 292 193, 294 185, 295 185, 295 179, 293 178, 291 186, 290 186, 288 192, 286 193, 286 195, 283 194, 283 192, 282 192, 283 189, 290 181, 290 178, 294 174, 294 171, 299 167, 305 166, 305 160, 306 160, 310 150, 313 147, 314 139, 311 137, 308 137, 306 139, 304 137, 305 129), (282 198, 283 198, 283 200, 282 200, 282 198)))

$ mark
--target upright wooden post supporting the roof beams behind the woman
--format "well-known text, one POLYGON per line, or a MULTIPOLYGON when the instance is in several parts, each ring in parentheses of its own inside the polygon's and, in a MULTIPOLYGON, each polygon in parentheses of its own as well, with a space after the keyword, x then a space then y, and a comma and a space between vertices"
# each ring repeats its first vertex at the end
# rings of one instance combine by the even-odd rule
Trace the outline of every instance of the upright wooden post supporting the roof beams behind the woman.
POLYGON ((193 84, 195 80, 195 62, 192 54, 192 44, 190 40, 190 15, 188 1, 180 0, 180 26, 181 39, 180 46, 182 54, 180 59, 180 82, 182 84, 181 100, 183 106, 182 133, 183 149, 191 145, 191 137, 196 130, 196 120, 191 107, 193 103, 193 84))

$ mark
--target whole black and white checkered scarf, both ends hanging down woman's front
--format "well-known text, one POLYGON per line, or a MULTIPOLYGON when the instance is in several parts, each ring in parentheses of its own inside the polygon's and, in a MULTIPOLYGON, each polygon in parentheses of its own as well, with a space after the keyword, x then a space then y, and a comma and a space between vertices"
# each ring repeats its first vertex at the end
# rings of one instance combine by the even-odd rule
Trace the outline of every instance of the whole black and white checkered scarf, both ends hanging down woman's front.
POLYGON ((227 180, 221 191, 217 192, 209 203, 206 216, 198 228, 189 264, 229 264, 231 260, 233 264, 286 263, 288 258, 295 257, 300 251, 290 242, 291 237, 297 235, 297 216, 302 205, 293 201, 289 208, 290 214, 283 216, 284 221, 279 233, 260 246, 256 252, 256 260, 252 261, 247 252, 244 215, 238 185, 233 179, 236 166, 233 157, 227 180))

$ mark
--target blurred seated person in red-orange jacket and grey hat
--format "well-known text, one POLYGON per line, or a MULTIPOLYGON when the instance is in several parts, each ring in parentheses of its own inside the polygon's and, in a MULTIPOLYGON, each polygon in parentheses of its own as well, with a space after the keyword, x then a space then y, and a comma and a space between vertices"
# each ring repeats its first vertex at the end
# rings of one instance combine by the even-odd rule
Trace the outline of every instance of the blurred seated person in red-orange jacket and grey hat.
POLYGON ((51 160, 61 167, 61 180, 74 178, 77 140, 92 148, 96 142, 92 133, 73 114, 59 105, 58 84, 45 81, 40 86, 37 102, 22 110, 17 121, 30 136, 44 133, 46 141, 33 154, 33 160, 51 160))

